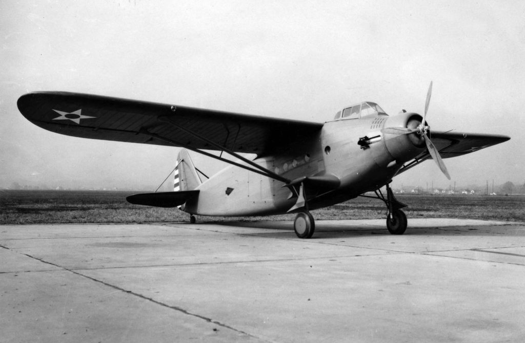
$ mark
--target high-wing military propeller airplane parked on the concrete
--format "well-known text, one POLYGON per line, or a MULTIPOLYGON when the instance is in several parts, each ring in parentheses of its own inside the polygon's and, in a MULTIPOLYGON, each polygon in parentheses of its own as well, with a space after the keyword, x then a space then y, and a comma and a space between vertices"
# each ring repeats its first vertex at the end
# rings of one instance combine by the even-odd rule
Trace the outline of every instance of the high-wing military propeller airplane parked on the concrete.
POLYGON ((190 214, 192 223, 195 215, 296 213, 297 237, 311 238, 311 210, 360 196, 382 200, 388 232, 403 234, 407 218, 401 209, 407 205, 394 197, 394 176, 433 159, 450 179, 443 158, 510 139, 430 130, 426 115, 431 94, 432 82, 423 115, 403 110, 390 116, 376 103, 364 101, 324 123, 71 92, 27 93, 17 105, 27 120, 51 132, 182 147, 174 191, 131 195, 131 203, 179 208, 190 214), (188 150, 229 166, 208 178, 195 167, 188 150))

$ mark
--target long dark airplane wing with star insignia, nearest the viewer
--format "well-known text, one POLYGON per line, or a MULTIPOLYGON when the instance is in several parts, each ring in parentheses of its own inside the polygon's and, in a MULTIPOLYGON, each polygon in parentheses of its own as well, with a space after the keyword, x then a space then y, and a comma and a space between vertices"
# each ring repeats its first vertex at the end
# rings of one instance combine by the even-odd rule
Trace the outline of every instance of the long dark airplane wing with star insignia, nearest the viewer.
POLYGON ((33 124, 69 136, 219 151, 226 148, 259 156, 309 137, 323 125, 69 92, 28 93, 17 104, 33 124))

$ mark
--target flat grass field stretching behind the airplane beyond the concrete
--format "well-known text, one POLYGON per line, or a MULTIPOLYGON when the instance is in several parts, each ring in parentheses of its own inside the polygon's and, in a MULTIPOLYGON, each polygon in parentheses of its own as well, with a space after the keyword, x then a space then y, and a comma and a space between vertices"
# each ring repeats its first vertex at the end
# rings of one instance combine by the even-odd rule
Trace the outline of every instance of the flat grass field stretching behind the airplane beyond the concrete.
MULTIPOLYGON (((187 221, 178 209, 132 205, 125 200, 131 192, 0 190, 0 224, 32 223, 134 223, 187 221)), ((469 218, 525 221, 523 196, 425 196, 399 195, 408 205, 408 218, 469 218)), ((357 198, 312 211, 314 218, 385 218, 384 203, 357 198)), ((270 217, 197 217, 199 221, 293 220, 294 215, 270 217)))

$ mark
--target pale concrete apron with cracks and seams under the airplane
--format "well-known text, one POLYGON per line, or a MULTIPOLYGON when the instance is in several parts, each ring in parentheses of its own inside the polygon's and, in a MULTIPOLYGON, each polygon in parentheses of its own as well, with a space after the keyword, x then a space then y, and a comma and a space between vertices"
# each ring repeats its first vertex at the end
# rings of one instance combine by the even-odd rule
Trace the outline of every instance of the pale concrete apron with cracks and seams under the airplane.
POLYGON ((523 223, 0 226, 0 341, 521 341, 523 223))

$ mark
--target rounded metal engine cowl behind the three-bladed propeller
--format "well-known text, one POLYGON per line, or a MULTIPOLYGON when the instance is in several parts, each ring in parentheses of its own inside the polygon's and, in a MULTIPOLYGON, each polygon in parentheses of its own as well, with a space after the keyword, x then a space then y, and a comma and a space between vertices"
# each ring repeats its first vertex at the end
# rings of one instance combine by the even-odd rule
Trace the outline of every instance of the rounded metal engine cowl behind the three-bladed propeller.
MULTIPOLYGON (((383 127, 415 129, 421 124, 422 120, 423 117, 417 113, 402 113, 389 117, 383 127)), ((417 132, 410 134, 403 134, 402 132, 383 133, 383 141, 386 150, 397 163, 411 160, 425 149, 425 140, 423 136, 417 132)))

